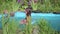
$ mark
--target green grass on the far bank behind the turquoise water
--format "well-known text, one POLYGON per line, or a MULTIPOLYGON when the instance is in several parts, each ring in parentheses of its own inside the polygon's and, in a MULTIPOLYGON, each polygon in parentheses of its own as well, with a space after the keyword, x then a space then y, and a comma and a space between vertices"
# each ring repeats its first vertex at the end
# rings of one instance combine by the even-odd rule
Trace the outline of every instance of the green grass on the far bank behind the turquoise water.
MULTIPOLYGON (((45 0, 43 1, 41 4, 40 0, 38 0, 37 3, 34 3, 34 1, 32 0, 31 2, 31 6, 33 8, 33 10, 39 10, 42 12, 57 12, 60 11, 60 3, 57 1, 57 3, 54 2, 55 0, 45 0)), ((28 7, 28 3, 27 0, 24 0, 24 5, 22 5, 22 3, 18 3, 16 0, 12 0, 12 1, 5 1, 3 2, 2 0, 0 1, 0 13, 2 13, 2 11, 4 11, 5 9, 7 9, 8 11, 17 11, 18 9, 20 9, 21 11, 24 11, 25 8, 28 7)))

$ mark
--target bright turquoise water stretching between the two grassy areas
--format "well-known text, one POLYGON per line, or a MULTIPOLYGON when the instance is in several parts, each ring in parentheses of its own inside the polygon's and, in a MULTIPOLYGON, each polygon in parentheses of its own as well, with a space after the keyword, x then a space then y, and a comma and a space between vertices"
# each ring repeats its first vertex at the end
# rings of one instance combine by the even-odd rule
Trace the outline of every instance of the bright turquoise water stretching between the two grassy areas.
MULTIPOLYGON (((26 14, 24 12, 16 12, 13 18, 19 22, 20 20, 25 19, 25 17, 26 14)), ((1 18, 2 15, 0 15, 0 28, 2 28, 1 18)), ((31 14, 32 24, 34 24, 34 22, 36 22, 40 18, 46 19, 54 29, 60 31, 60 14, 32 13, 31 14)))

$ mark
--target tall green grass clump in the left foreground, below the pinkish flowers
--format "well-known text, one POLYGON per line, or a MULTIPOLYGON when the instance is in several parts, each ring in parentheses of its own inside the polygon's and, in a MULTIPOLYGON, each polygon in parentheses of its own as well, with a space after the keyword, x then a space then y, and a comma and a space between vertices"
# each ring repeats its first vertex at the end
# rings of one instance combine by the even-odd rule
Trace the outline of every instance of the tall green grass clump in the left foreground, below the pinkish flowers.
POLYGON ((3 34, 16 34, 18 29, 18 24, 14 18, 10 19, 10 17, 2 17, 2 28, 3 34))

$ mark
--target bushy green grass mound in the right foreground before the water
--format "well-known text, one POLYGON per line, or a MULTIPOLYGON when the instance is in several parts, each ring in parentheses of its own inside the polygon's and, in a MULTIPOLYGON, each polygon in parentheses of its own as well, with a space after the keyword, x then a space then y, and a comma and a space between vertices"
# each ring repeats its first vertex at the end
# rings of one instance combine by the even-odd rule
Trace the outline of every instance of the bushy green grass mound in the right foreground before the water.
POLYGON ((39 34, 58 34, 46 19, 38 21, 39 34))

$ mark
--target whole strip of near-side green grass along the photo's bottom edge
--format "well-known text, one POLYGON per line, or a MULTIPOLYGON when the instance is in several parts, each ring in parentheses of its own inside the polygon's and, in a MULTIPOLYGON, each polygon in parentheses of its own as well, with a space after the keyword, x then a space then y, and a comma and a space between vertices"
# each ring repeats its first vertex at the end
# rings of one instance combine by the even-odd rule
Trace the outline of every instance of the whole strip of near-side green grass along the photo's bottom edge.
POLYGON ((59 34, 50 26, 49 22, 43 18, 39 19, 35 25, 30 24, 30 21, 23 30, 18 27, 19 25, 14 19, 4 25, 5 21, 4 19, 2 20, 3 34, 59 34))

